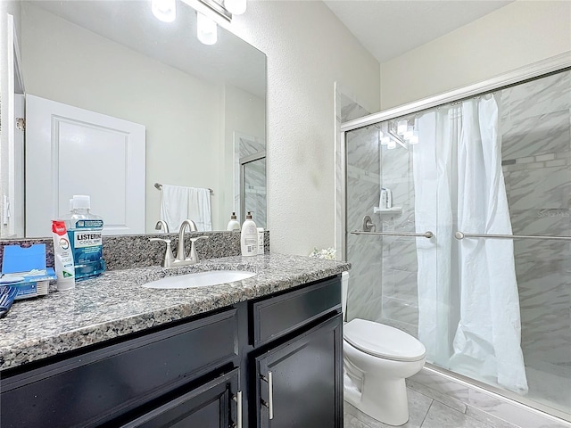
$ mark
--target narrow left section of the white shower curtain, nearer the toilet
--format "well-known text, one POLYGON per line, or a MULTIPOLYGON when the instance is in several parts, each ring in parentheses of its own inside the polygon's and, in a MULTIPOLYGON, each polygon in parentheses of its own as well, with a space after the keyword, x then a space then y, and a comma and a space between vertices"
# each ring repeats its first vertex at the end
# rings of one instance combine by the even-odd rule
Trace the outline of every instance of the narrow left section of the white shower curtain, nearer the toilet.
POLYGON ((447 367, 451 353, 449 317, 451 277, 451 138, 447 110, 430 111, 416 126, 419 141, 412 152, 417 238, 418 339, 426 358, 447 367), (436 145, 440 144, 438 149, 436 145), (434 168, 436 167, 436 168, 434 168))

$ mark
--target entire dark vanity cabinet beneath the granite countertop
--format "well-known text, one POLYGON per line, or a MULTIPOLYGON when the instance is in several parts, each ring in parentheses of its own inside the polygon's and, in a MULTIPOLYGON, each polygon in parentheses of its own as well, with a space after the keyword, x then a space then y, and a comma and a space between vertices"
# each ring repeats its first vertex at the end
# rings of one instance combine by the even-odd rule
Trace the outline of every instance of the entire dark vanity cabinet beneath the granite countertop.
POLYGON ((0 372, 0 426, 341 427, 338 276, 0 372))

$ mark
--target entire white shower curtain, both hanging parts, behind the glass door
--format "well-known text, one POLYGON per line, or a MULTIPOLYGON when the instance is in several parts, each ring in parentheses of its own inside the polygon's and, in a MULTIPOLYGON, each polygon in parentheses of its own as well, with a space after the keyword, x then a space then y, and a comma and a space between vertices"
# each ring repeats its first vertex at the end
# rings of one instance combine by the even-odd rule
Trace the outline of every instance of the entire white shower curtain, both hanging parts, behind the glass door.
POLYGON ((440 110, 442 112, 435 113, 434 132, 428 123, 421 126, 423 121, 431 120, 431 113, 418 120, 419 143, 414 149, 415 194, 430 183, 430 177, 426 176, 430 164, 423 167, 423 163, 429 161, 423 159, 417 165, 420 152, 425 150, 434 151, 436 176, 440 181, 448 180, 449 191, 444 194, 445 186, 437 179, 437 188, 441 190, 437 194, 437 206, 434 200, 424 201, 422 195, 415 199, 417 225, 424 226, 430 218, 426 212, 431 209, 438 210, 439 217, 434 226, 437 246, 434 248, 433 244, 430 249, 428 243, 418 242, 419 339, 427 341, 427 349, 435 342, 436 364, 497 382, 523 394, 527 391, 527 383, 520 346, 513 243, 492 238, 467 238, 458 243, 451 237, 454 224, 466 233, 511 234, 501 171, 498 105, 492 95, 487 95, 440 110), (444 114, 447 119, 439 120, 439 115, 443 117, 444 114), (425 148, 425 143, 432 148, 425 148), (454 156, 456 148, 458 153, 454 156), (441 170, 443 168, 447 173, 441 170), (445 203, 449 203, 450 218, 449 214, 440 211, 446 210, 445 203), (445 221, 449 222, 446 224, 445 221), (450 263, 448 270, 447 261, 450 263), (431 265, 433 271, 436 267, 435 276, 431 265), (434 294, 434 290, 437 290, 434 298, 423 299, 434 294), (434 317, 434 306, 447 304, 450 308, 446 319, 442 319, 442 313, 434 317), (431 328, 440 329, 422 325, 431 320, 446 323, 451 327, 451 333, 457 325, 451 347, 451 336, 443 333, 435 335, 436 339, 428 335, 426 340, 426 333, 430 333, 431 328), (449 345, 450 359, 445 361, 443 351, 437 350, 443 350, 446 345, 449 345))

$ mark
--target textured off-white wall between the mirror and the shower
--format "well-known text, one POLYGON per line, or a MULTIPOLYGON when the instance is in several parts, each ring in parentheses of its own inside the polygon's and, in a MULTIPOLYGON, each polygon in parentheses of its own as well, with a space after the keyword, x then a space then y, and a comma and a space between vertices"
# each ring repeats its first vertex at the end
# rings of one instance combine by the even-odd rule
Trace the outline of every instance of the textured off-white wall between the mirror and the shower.
POLYGON ((249 1, 230 29, 268 56, 271 251, 333 246, 334 83, 378 111, 379 64, 322 2, 249 1))

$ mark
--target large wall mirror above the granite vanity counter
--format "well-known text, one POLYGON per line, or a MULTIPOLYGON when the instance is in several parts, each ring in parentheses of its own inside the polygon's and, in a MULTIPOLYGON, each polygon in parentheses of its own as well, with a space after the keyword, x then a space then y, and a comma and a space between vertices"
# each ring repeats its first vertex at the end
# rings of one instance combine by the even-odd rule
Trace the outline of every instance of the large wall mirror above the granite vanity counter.
POLYGON ((0 80, 2 237, 48 236, 72 193, 91 195, 110 235, 156 233, 160 185, 211 189, 211 230, 242 210, 266 226, 264 53, 220 27, 218 42, 203 45, 180 1, 170 23, 150 1, 3 3, 14 53, 0 80), (10 135, 4 122, 23 115, 25 131, 15 121, 10 135), (92 130, 99 142, 88 147, 92 130), (244 168, 252 159, 258 167, 244 168), (90 175, 98 181, 82 187, 90 175), (38 217, 46 207, 50 218, 38 217), (134 214, 136 226, 124 227, 134 214))

